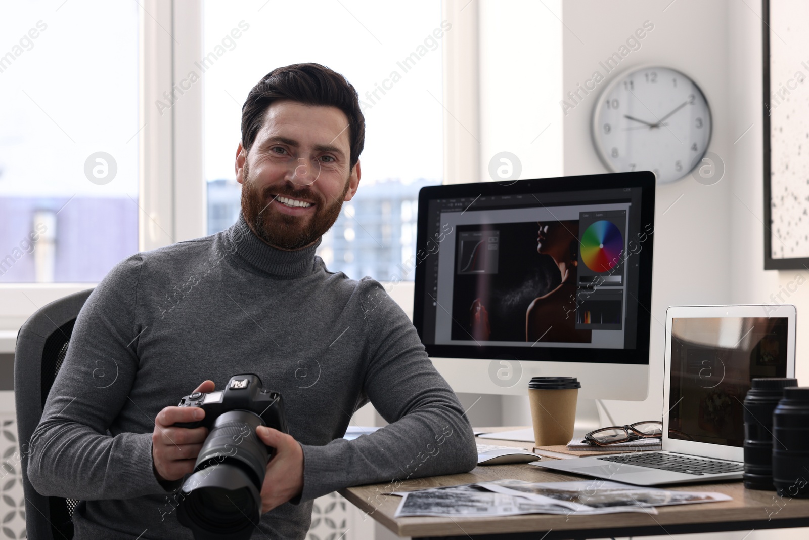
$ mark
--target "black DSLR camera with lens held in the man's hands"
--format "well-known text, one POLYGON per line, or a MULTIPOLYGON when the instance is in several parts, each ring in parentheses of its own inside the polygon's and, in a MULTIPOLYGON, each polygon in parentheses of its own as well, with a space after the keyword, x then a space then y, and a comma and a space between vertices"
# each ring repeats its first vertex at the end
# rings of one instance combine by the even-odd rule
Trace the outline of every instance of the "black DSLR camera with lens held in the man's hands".
POLYGON ((275 455, 256 435, 256 427, 289 432, 281 394, 263 388, 257 375, 247 373, 232 376, 223 390, 185 396, 178 406, 200 407, 205 418, 175 426, 208 428, 193 473, 181 488, 180 523, 197 540, 250 538, 260 518, 267 463, 275 455))

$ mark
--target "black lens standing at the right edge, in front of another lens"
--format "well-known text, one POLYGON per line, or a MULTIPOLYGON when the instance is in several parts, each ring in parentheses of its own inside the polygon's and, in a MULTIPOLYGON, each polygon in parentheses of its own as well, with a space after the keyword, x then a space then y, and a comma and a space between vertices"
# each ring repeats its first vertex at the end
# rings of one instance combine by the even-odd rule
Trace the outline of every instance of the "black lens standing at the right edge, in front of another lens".
POLYGON ((773 483, 781 497, 809 497, 809 388, 784 389, 773 412, 773 483))

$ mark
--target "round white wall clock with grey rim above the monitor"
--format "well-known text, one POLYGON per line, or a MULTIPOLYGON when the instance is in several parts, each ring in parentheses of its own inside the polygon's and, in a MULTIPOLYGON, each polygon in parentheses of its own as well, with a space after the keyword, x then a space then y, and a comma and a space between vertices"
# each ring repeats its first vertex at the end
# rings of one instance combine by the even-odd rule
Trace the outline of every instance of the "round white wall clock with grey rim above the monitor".
POLYGON ((599 96, 593 141, 613 172, 652 171, 676 181, 708 149, 711 117, 705 96, 688 75, 668 67, 620 74, 599 96))

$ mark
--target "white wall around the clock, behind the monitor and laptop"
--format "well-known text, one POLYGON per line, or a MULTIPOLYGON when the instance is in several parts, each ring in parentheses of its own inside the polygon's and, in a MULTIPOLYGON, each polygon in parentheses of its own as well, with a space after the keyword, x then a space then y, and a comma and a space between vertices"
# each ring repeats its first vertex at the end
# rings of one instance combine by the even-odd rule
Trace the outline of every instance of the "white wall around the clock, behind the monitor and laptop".
MULTIPOLYGON (((612 75, 648 62, 674 67, 692 77, 713 114, 709 150, 726 166, 725 176, 716 185, 687 178, 658 186, 650 308, 654 317, 650 380, 656 384, 650 386, 646 402, 606 403, 616 422, 625 423, 660 408, 662 323, 668 305, 769 302, 779 286, 786 287, 799 273, 763 270, 760 2, 565 0, 563 10, 564 91, 588 79, 599 60, 648 19, 654 30, 612 75)), ((588 98, 595 98, 597 92, 588 98)), ((565 175, 605 171, 591 143, 593 106, 595 99, 585 100, 565 117, 565 175)), ((807 270, 800 273, 809 277, 807 270)), ((797 306, 799 314, 803 307, 809 312, 809 287, 798 287, 787 301, 797 306)), ((809 377, 809 363, 801 361, 800 336, 807 331, 809 317, 798 317, 796 364, 798 377, 804 381, 809 377)), ((756 531, 745 538, 797 539, 806 534, 807 529, 756 531)), ((740 536, 700 534, 689 538, 740 536)))

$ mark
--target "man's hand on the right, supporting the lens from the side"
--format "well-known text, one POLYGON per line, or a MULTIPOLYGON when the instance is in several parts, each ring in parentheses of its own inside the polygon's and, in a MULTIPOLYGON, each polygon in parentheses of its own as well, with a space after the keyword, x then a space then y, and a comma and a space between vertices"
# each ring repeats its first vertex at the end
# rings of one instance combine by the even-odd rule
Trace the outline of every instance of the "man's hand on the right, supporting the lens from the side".
POLYGON ((286 503, 303 491, 303 449, 292 436, 272 427, 256 428, 256 435, 275 449, 261 486, 261 513, 286 503))

